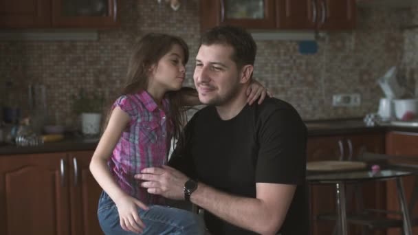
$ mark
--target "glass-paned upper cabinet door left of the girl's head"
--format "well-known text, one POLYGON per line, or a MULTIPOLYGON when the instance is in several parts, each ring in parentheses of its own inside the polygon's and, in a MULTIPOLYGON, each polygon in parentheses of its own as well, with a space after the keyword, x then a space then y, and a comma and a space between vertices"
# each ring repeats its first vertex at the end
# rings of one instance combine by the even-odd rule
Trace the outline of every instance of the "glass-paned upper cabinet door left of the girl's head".
POLYGON ((54 27, 116 27, 117 0, 54 0, 52 1, 54 27))

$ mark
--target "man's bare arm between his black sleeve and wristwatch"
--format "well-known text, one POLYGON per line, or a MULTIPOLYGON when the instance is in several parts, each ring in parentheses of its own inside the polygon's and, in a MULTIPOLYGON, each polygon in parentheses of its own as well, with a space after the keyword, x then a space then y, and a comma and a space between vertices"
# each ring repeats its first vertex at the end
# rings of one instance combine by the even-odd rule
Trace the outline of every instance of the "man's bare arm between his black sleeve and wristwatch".
POLYGON ((256 183, 256 198, 236 197, 199 183, 190 201, 219 218, 259 234, 280 230, 296 186, 256 183))

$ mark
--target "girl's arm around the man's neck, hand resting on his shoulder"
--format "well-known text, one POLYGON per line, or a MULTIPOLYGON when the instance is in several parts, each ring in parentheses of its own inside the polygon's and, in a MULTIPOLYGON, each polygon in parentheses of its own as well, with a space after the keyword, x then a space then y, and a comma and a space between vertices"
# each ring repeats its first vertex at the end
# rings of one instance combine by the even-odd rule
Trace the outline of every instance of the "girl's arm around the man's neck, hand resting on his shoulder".
MULTIPOLYGON (((185 106, 196 106, 201 104, 196 89, 192 89, 191 87, 182 87, 179 93, 181 94, 181 99, 183 100, 185 106)), ((254 79, 248 87, 246 94, 248 96, 247 102, 250 105, 257 99, 259 100, 259 104, 261 104, 265 99, 265 96, 272 97, 272 93, 267 91, 267 88, 263 87, 258 80, 254 79)))

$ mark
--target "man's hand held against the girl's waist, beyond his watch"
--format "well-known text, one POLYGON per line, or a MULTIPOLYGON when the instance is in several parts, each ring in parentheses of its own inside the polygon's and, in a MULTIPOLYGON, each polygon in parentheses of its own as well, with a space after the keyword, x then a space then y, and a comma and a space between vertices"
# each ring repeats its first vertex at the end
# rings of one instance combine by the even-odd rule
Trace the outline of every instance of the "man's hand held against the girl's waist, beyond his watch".
POLYGON ((170 166, 144 168, 135 179, 143 181, 141 186, 147 188, 148 193, 175 200, 184 199, 184 183, 188 181, 186 175, 170 166))

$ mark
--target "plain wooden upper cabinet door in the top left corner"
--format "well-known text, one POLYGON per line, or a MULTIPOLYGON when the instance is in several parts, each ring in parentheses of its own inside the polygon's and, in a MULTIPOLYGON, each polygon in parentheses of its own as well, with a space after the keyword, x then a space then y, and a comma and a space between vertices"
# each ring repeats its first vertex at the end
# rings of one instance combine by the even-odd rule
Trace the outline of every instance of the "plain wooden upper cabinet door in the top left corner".
POLYGON ((50 0, 0 0, 0 27, 50 27, 50 0))

